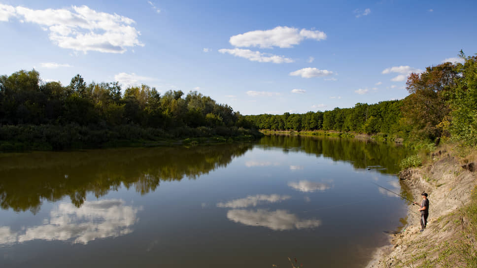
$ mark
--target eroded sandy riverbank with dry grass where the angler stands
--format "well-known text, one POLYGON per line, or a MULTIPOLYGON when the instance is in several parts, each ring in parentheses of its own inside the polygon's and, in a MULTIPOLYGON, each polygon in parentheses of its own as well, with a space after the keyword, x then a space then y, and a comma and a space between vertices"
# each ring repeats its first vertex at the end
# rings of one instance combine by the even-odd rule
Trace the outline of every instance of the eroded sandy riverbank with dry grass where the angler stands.
POLYGON ((422 167, 401 172, 414 200, 429 194, 427 228, 419 232, 417 206, 409 205, 408 226, 390 235, 367 268, 477 267, 477 153, 440 147, 422 167))

